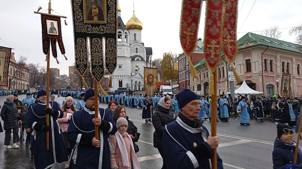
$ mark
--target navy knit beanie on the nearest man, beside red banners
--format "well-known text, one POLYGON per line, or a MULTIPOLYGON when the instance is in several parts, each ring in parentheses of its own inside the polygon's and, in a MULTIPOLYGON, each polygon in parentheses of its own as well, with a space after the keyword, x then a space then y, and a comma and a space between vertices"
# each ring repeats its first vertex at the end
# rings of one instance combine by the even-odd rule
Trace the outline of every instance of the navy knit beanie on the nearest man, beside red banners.
POLYGON ((198 95, 196 95, 192 90, 183 89, 177 94, 177 102, 180 110, 182 110, 182 108, 192 100, 199 100, 198 95))

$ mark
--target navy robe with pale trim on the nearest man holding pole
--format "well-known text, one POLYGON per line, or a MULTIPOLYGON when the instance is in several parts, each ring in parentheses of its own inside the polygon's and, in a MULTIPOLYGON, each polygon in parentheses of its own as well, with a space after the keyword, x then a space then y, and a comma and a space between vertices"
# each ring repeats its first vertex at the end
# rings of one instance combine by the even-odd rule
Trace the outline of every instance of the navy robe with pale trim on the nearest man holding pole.
MULTIPOLYGON (((197 145, 203 144, 208 136, 210 136, 209 130, 204 125, 200 128, 191 128, 179 117, 165 125, 162 139, 165 141, 162 142, 162 147, 167 168, 210 169, 210 161, 207 157, 198 161, 192 153, 194 149, 193 143, 195 142, 197 145)), ((218 154, 217 168, 223 169, 222 160, 218 154)))

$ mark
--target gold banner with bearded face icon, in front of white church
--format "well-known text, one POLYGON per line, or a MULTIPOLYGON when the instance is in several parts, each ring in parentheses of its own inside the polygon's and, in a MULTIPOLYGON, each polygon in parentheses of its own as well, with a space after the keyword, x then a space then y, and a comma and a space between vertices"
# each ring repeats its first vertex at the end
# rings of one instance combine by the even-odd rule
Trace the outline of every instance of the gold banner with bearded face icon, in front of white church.
POLYGON ((157 90, 157 68, 144 67, 144 89, 149 96, 157 90))

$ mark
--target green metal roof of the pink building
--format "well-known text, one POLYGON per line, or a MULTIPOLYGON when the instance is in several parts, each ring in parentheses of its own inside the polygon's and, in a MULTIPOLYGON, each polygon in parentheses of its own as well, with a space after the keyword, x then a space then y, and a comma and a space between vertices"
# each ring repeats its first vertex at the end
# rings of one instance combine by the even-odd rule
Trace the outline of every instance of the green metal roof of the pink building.
POLYGON ((245 34, 243 37, 241 37, 240 39, 238 39, 237 44, 239 50, 245 48, 245 47, 240 48, 240 46, 244 45, 246 42, 252 44, 249 47, 256 46, 256 45, 263 45, 263 46, 268 46, 272 48, 277 48, 277 49, 282 49, 282 50, 287 50, 287 51, 302 54, 302 50, 300 50, 300 48, 302 47, 301 45, 258 35, 256 33, 249 32, 245 34))

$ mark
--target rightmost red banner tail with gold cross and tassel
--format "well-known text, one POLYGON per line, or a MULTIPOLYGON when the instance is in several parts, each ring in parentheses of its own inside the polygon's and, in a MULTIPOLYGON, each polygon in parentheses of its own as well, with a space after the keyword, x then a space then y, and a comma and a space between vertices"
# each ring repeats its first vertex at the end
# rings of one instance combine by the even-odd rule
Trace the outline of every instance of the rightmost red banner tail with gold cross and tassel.
POLYGON ((227 0, 224 18, 222 47, 226 60, 233 63, 237 53, 238 0, 227 0))

